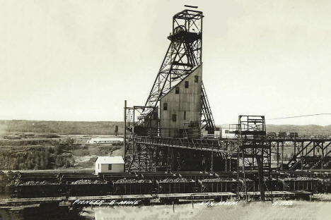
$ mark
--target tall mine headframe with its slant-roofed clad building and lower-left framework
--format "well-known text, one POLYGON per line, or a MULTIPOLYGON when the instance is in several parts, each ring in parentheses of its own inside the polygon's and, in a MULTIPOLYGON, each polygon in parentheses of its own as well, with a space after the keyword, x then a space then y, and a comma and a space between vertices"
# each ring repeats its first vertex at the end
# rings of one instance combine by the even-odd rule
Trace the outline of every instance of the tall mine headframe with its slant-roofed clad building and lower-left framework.
POLYGON ((188 7, 173 16, 170 44, 146 103, 125 107, 128 132, 124 152, 128 170, 170 167, 175 157, 179 158, 180 153, 174 156, 173 149, 139 142, 139 137, 199 139, 202 133, 214 134, 214 118, 202 82, 204 16, 195 10, 197 7, 188 7))

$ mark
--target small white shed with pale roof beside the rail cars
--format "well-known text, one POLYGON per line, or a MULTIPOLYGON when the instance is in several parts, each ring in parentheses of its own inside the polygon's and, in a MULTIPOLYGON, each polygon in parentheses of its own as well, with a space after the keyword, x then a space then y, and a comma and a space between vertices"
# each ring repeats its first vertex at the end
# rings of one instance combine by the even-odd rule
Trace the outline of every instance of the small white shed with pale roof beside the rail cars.
POLYGON ((120 156, 98 157, 95 161, 95 174, 124 172, 124 160, 120 156))

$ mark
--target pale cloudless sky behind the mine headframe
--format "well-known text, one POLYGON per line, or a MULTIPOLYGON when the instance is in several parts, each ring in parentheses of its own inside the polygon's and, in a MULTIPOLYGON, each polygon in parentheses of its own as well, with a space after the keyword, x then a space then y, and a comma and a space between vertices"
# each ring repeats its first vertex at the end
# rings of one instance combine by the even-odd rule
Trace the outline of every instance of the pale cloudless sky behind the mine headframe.
POLYGON ((184 5, 204 12, 216 124, 330 125, 331 1, 0 0, 0 119, 122 121, 142 105, 184 5))

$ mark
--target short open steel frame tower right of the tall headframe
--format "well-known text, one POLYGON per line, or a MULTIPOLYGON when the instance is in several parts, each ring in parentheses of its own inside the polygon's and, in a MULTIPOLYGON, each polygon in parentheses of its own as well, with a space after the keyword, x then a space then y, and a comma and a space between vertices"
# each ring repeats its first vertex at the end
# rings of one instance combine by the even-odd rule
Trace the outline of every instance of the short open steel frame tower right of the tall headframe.
MULTIPOLYGON (((238 182, 243 183, 243 188, 238 191, 245 192, 248 200, 248 184, 245 172, 256 170, 261 200, 265 200, 265 170, 271 178, 271 147, 267 145, 267 131, 265 128, 265 116, 239 116, 238 117, 238 182), (243 174, 239 180, 240 167, 243 174)), ((239 183, 238 183, 239 184, 239 183)), ((268 190, 268 188, 267 188, 268 190)))

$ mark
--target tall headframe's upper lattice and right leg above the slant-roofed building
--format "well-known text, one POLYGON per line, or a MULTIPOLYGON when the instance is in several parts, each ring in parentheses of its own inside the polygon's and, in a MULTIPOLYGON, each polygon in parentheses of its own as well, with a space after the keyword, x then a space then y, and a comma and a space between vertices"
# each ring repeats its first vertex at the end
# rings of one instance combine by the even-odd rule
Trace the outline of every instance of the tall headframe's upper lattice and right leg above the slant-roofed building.
MULTIPOLYGON (((192 6, 188 6, 192 8, 192 6)), ((197 7, 193 7, 197 8, 197 7)), ((173 32, 170 33, 169 47, 149 92, 145 106, 156 107, 167 94, 185 76, 202 65, 202 11, 185 9, 173 16, 173 32)), ((151 108, 139 116, 144 120, 153 111, 151 108)), ((202 120, 201 129, 214 133, 215 123, 202 83, 202 120)))

